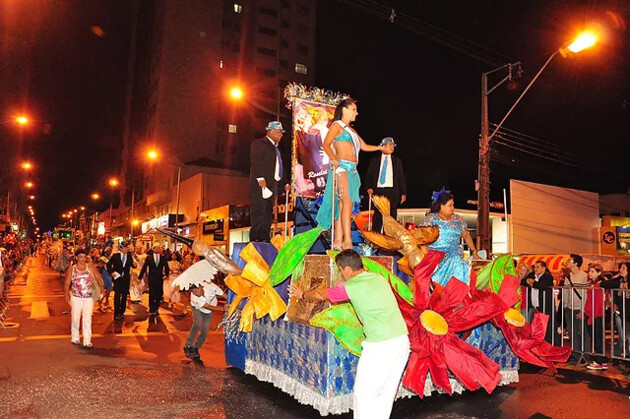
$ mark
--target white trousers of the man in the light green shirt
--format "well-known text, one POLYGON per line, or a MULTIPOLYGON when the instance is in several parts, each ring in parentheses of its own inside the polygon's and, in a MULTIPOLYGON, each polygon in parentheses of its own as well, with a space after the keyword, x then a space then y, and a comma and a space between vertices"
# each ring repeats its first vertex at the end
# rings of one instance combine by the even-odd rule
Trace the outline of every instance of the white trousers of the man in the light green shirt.
POLYGON ((363 342, 354 380, 354 418, 387 419, 409 359, 409 337, 363 342))

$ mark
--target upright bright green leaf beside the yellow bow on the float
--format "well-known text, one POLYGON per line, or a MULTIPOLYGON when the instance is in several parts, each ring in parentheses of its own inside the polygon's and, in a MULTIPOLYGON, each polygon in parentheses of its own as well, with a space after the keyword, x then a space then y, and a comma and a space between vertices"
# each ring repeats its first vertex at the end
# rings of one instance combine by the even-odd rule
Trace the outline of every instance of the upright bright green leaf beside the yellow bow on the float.
POLYGON ((291 275, 298 264, 304 260, 304 256, 311 249, 322 230, 322 227, 318 226, 297 234, 280 249, 280 253, 271 267, 271 272, 269 272, 271 286, 275 287, 291 275))

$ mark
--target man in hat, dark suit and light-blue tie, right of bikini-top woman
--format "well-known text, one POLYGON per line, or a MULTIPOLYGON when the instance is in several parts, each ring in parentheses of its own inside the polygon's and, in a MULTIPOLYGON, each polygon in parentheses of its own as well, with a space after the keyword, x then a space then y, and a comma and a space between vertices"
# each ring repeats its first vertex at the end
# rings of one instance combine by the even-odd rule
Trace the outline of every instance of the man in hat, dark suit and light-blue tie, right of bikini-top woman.
MULTIPOLYGON (((385 150, 380 156, 370 160, 365 186, 369 195, 376 194, 387 197, 390 203, 391 216, 398 215, 398 205, 407 200, 407 181, 402 168, 402 161, 394 157, 396 143, 392 137, 385 137, 381 140, 381 146, 385 150)), ((372 219, 372 231, 381 232, 383 217, 378 211, 374 211, 372 219)))

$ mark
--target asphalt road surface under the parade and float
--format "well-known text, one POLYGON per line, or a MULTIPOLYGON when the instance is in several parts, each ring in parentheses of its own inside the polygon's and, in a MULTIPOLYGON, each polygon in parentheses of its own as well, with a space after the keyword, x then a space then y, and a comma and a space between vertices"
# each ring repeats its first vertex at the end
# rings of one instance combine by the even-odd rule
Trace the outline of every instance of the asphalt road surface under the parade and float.
MULTIPOLYGON (((161 321, 150 324, 146 299, 119 329, 111 313, 95 312, 94 348, 71 345, 61 282, 43 261, 29 260, 16 279, 15 327, 0 330, 0 417, 320 417, 272 385, 227 369, 220 332, 201 351, 206 368, 182 363, 190 315, 163 309, 161 321), (48 317, 29 318, 42 301, 48 317)), ((213 328, 221 315, 215 313, 213 328)), ((571 369, 554 376, 524 366, 519 383, 492 395, 399 400, 392 418, 627 418, 629 385, 620 376, 571 369)))

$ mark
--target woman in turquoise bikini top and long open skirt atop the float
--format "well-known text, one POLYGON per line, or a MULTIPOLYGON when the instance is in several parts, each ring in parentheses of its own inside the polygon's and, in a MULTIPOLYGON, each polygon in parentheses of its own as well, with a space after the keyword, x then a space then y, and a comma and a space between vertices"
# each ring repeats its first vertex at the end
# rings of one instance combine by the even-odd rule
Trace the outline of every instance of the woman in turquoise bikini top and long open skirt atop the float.
POLYGON ((350 128, 350 124, 354 122, 358 114, 354 99, 346 98, 339 102, 335 109, 333 123, 323 143, 333 170, 328 170, 324 199, 317 212, 317 223, 324 230, 330 229, 332 225, 332 179, 333 174, 336 174, 335 236, 333 237, 333 248, 336 250, 352 248, 350 237, 352 209, 354 204, 361 200, 359 196, 361 179, 357 172, 359 150, 383 150, 381 146, 367 145, 359 134, 350 128))

